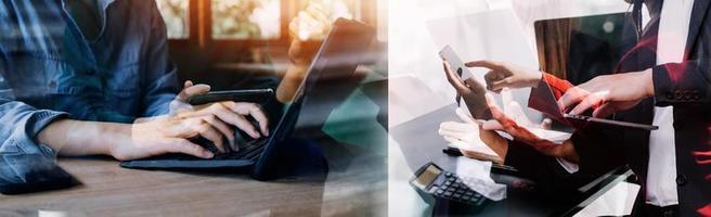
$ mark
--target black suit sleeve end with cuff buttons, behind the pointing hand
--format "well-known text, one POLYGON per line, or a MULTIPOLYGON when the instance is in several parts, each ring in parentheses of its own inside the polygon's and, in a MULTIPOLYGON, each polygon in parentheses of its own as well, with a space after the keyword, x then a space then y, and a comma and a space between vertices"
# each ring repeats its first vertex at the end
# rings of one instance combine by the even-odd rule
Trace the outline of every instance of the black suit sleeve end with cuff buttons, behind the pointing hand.
POLYGON ((651 68, 658 106, 711 105, 711 60, 668 63, 651 68))

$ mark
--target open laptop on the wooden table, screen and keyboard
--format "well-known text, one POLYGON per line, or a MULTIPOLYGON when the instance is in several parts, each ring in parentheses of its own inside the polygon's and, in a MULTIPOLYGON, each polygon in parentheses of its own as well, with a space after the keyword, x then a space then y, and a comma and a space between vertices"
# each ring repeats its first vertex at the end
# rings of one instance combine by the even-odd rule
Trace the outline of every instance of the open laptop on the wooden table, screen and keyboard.
POLYGON ((185 154, 166 154, 121 162, 120 166, 167 170, 247 169, 251 170, 251 177, 258 180, 274 178, 280 166, 284 166, 284 158, 295 158, 293 155, 298 155, 295 151, 309 150, 309 146, 302 145, 314 148, 309 142, 294 138, 297 120, 302 111, 310 113, 309 118, 314 119, 310 119, 311 124, 323 126, 331 112, 342 104, 364 78, 355 74, 355 69, 363 61, 374 36, 374 28, 366 24, 346 18, 337 20, 295 93, 293 103, 288 105, 270 137, 251 140, 237 152, 216 154, 209 159, 185 154), (338 84, 334 85, 335 81, 338 84), (334 99, 333 95, 337 95, 338 99, 334 99), (324 100, 327 102, 323 102, 324 100), (314 107, 324 106, 327 111, 312 111, 314 107))

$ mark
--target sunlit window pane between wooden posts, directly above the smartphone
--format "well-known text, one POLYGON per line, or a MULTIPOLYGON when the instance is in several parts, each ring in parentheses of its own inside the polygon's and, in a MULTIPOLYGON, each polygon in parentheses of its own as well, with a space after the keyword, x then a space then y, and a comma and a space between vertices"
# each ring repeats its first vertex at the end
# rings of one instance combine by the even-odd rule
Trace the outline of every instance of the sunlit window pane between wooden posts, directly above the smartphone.
POLYGON ((280 0, 212 0, 212 38, 277 39, 280 0))

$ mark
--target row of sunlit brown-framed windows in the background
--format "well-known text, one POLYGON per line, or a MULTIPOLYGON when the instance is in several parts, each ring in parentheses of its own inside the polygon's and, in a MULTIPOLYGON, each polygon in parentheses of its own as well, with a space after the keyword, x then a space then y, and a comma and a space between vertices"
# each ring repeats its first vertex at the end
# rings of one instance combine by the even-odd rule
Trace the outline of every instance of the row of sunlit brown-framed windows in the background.
POLYGON ((331 22, 345 17, 377 26, 378 40, 387 41, 387 0, 156 0, 156 2, 170 39, 189 39, 192 38, 191 31, 193 31, 192 34, 196 34, 197 38, 217 40, 282 40, 290 37, 320 40, 331 30, 331 22), (207 17, 203 17, 204 14, 207 14, 207 17), (191 22, 195 22, 196 25, 193 25, 195 29, 190 29, 191 22), (204 28, 205 26, 210 28, 204 28))

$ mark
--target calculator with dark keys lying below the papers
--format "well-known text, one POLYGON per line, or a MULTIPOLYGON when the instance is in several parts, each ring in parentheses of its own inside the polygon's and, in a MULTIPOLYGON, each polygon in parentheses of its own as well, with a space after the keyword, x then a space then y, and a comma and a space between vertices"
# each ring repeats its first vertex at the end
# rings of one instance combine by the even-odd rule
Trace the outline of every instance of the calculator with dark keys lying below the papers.
POLYGON ((431 162, 415 171, 410 184, 422 196, 434 196, 438 200, 475 206, 477 209, 490 201, 469 188, 478 184, 478 181, 445 171, 431 162))

